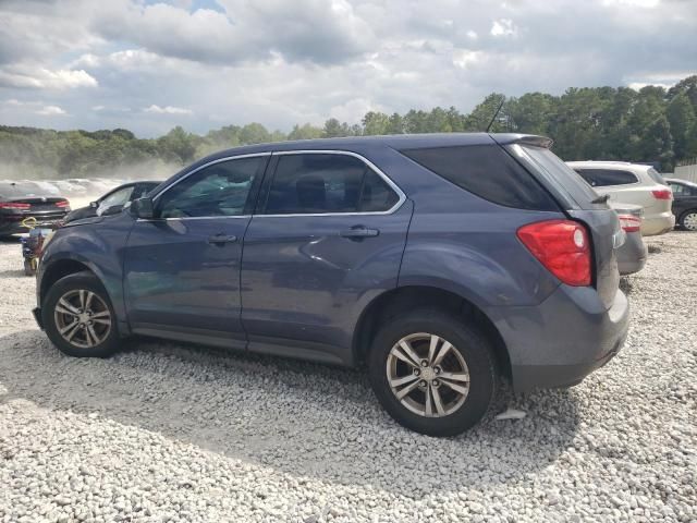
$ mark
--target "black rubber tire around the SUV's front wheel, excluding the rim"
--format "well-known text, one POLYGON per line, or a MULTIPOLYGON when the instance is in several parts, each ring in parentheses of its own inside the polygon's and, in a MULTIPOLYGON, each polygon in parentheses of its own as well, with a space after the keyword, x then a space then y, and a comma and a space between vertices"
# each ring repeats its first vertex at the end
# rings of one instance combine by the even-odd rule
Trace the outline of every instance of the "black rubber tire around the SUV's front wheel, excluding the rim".
POLYGON ((99 279, 88 271, 76 272, 61 278, 51 285, 41 304, 41 319, 44 329, 51 342, 64 354, 76 357, 107 357, 119 350, 119 329, 117 326, 113 306, 109 295, 99 279), (106 305, 110 314, 110 328, 106 337, 91 348, 75 345, 64 339, 56 324, 56 306, 66 293, 71 291, 90 291, 106 305))

